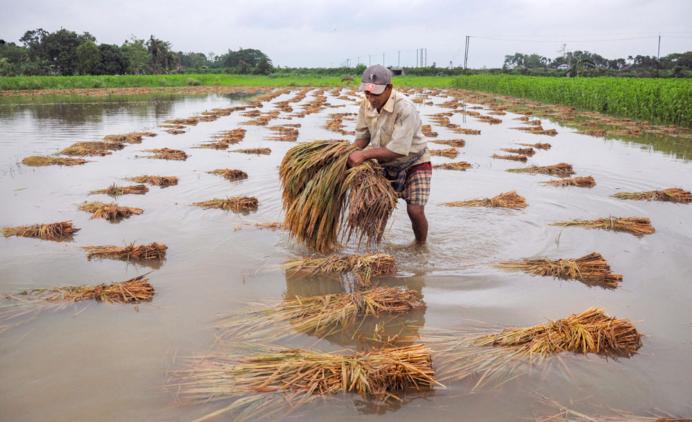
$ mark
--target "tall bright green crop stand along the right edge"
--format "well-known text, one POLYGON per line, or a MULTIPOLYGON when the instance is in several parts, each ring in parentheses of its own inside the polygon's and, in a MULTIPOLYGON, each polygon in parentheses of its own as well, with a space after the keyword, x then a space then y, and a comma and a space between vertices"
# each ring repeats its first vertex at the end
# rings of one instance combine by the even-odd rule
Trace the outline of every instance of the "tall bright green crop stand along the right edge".
POLYGON ((689 79, 470 75, 456 77, 453 86, 692 127, 689 79))

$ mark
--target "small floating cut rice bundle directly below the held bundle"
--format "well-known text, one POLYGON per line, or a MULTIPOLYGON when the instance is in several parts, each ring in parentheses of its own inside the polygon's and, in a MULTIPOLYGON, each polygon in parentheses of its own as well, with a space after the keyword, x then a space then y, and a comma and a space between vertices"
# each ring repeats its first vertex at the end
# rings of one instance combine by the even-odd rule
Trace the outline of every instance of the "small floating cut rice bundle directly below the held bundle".
POLYGON ((392 255, 385 253, 370 255, 329 255, 320 258, 305 258, 287 262, 282 265, 290 274, 302 273, 315 275, 318 273, 348 273, 352 272, 363 280, 381 275, 394 275, 397 265, 392 255))

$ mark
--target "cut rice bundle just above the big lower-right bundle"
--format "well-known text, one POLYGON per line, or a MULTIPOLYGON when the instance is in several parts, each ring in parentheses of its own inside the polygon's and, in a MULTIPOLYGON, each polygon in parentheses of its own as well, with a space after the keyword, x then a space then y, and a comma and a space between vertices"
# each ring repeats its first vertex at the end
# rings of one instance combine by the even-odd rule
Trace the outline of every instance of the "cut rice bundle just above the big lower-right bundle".
POLYGON ((612 273, 608 260, 594 252, 577 259, 521 259, 500 262, 499 268, 521 270, 531 275, 574 279, 603 288, 617 288, 622 275, 612 273))

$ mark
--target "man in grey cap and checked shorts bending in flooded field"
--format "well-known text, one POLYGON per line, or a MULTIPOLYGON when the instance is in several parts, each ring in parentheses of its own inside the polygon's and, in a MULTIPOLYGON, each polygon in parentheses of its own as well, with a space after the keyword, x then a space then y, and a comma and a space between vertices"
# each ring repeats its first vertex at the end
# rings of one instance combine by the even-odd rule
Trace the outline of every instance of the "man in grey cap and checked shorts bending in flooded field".
POLYGON ((428 239, 425 206, 430 196, 430 152, 423 137, 421 116, 406 95, 394 91, 392 73, 376 64, 365 69, 360 91, 365 92, 356 123, 356 145, 348 165, 374 158, 385 169, 399 198, 406 201, 413 234, 419 245, 428 239), (372 149, 365 149, 372 144, 372 149))

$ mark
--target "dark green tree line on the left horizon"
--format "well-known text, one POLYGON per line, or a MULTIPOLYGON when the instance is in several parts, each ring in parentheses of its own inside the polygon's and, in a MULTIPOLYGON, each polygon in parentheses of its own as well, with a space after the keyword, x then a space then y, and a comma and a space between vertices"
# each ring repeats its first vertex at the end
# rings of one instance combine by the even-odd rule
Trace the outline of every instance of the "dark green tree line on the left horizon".
POLYGON ((38 28, 26 31, 19 43, 0 39, 0 76, 161 75, 209 69, 267 75, 273 70, 271 59, 253 48, 229 49, 222 55, 183 53, 154 35, 132 35, 118 46, 97 44, 87 32, 38 28))

